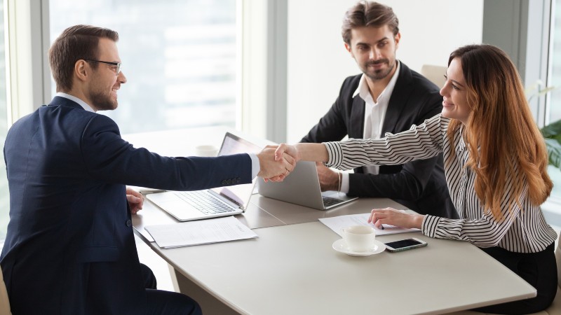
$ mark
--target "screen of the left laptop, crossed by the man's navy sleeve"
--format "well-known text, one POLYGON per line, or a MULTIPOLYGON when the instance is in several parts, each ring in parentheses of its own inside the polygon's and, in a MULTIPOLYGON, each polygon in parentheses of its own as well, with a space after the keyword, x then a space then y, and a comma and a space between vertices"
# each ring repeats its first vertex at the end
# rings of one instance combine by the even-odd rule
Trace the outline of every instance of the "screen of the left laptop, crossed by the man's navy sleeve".
MULTIPOLYGON (((232 155, 237 153, 259 153, 262 150, 259 146, 252 144, 250 141, 241 139, 229 132, 224 136, 222 146, 218 155, 232 155)), ((253 193, 253 186, 255 186, 256 179, 252 183, 212 188, 215 193, 227 197, 232 202, 238 204, 242 209, 247 209, 250 201, 251 194, 253 193)))

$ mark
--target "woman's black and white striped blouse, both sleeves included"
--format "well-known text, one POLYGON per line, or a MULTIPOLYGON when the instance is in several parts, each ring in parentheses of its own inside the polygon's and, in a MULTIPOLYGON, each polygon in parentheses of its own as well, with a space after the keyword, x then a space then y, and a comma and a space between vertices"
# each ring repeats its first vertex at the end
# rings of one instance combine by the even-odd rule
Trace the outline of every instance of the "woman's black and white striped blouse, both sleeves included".
MULTIPOLYGON (((455 154, 450 157, 450 141, 446 130, 450 120, 437 115, 424 124, 413 125, 410 130, 398 134, 386 134, 383 139, 349 139, 343 142, 326 142, 329 153, 327 166, 352 169, 361 165, 396 165, 431 158, 443 152, 445 174, 452 202, 459 219, 425 216, 421 225, 424 235, 442 239, 471 241, 480 247, 499 246, 518 253, 543 251, 557 238, 555 231, 546 223, 541 208, 529 202, 526 185, 520 196, 520 205, 513 205, 512 216, 508 204, 503 207, 503 221, 495 221, 485 214, 475 194, 475 174, 464 167, 468 150, 461 137, 462 128, 454 134, 455 154)), ((507 183, 503 200, 511 195, 507 183)))

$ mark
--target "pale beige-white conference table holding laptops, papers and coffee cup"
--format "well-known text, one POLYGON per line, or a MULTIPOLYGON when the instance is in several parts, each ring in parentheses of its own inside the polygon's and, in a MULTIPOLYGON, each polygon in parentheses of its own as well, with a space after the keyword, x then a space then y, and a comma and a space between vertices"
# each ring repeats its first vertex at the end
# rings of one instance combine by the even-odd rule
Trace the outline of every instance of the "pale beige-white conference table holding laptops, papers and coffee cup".
MULTIPOLYGON (((441 314, 536 295, 532 286, 467 242, 420 232, 386 235, 377 239, 418 237, 428 246, 352 257, 334 251, 339 236, 312 218, 364 213, 366 204, 387 207, 391 200, 360 199, 330 212, 253 198, 256 204, 283 206, 269 211, 285 214, 271 220, 273 226, 255 228, 257 239, 161 249, 141 237, 175 269, 177 288, 197 300, 205 314, 441 314), (300 208, 306 211, 297 214, 300 208), (285 224, 289 217, 311 222, 285 224)), ((160 210, 147 204, 143 211, 160 210)))

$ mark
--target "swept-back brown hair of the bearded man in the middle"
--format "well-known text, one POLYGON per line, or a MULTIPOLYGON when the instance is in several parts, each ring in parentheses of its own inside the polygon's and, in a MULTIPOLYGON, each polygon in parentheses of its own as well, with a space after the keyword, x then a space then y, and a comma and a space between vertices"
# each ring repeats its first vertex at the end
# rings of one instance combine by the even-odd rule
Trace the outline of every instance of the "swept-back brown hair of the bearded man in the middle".
POLYGON ((343 19, 343 41, 351 44, 351 30, 357 27, 383 27, 388 25, 396 36, 399 32, 399 20, 393 10, 384 4, 372 1, 360 1, 346 11, 343 19))

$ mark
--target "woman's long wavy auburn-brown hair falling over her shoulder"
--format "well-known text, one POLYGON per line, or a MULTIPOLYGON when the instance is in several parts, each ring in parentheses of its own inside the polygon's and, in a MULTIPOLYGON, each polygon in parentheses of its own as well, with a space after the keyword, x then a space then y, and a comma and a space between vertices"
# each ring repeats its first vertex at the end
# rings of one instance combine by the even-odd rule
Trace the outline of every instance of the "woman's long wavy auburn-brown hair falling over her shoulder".
MULTIPOLYGON (((466 167, 476 174, 475 193, 485 211, 503 220, 501 200, 506 190, 511 187, 512 194, 504 206, 512 211, 526 183, 529 201, 543 203, 553 188, 546 144, 511 59, 492 45, 458 48, 450 54, 449 66, 454 58, 461 62, 471 106, 464 132, 470 153, 466 167)), ((452 143, 459 127, 459 120, 450 122, 447 137, 452 143)))

